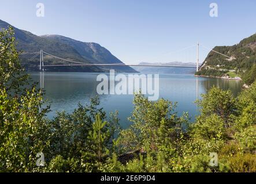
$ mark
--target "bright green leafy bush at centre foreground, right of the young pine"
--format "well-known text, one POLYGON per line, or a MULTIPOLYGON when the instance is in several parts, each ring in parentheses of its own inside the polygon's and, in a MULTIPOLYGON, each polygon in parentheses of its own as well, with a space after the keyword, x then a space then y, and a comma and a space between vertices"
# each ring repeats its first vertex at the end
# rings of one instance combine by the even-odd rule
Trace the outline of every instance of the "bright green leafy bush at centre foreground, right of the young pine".
POLYGON ((188 122, 187 114, 178 117, 174 111, 176 104, 165 99, 151 102, 142 94, 136 94, 133 103, 134 110, 129 118, 133 125, 121 132, 120 143, 134 140, 132 150, 144 150, 148 144, 153 150, 161 149, 162 145, 174 146, 183 133, 182 126, 188 122))

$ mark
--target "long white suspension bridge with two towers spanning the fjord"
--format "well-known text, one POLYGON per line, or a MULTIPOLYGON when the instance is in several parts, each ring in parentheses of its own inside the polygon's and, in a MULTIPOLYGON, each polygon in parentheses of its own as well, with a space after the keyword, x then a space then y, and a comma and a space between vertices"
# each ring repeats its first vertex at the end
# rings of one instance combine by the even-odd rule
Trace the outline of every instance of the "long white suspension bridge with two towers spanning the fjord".
MULTIPOLYGON (((40 71, 44 71, 44 68, 46 67, 63 67, 63 66, 136 66, 136 67, 177 67, 177 68, 195 68, 196 71, 199 71, 199 68, 201 68, 201 66, 199 66, 199 43, 196 43, 196 45, 192 45, 192 46, 196 46, 196 62, 195 62, 195 66, 183 66, 183 65, 168 65, 168 64, 125 64, 125 63, 101 63, 101 64, 95 64, 95 63, 84 63, 84 62, 77 62, 74 60, 69 60, 69 59, 65 59, 62 57, 58 57, 55 55, 52 55, 50 53, 44 52, 43 49, 40 49, 39 52, 36 53, 36 55, 34 55, 31 60, 34 60, 36 57, 40 56, 40 63, 39 63, 39 70, 40 71), (68 62, 68 63, 63 63, 63 64, 44 64, 44 55, 46 56, 50 56, 54 59, 59 59, 62 62, 68 62)), ((204 47, 202 45, 202 47, 204 47)), ((209 49, 207 47, 204 47, 206 49, 209 49)), ((227 57, 228 59, 231 59, 231 57, 224 55, 223 53, 214 51, 213 49, 210 49, 210 51, 213 51, 215 53, 218 53, 222 56, 227 57)))

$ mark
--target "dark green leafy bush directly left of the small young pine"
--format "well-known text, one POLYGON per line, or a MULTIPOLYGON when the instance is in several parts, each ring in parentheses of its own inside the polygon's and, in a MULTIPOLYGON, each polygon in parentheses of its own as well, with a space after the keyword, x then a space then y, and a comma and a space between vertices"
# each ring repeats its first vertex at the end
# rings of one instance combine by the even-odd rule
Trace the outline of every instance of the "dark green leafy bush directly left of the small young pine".
POLYGON ((89 105, 79 104, 72 114, 57 113, 53 120, 49 120, 50 155, 62 155, 65 159, 81 156, 80 151, 88 147, 87 137, 96 114, 100 114, 102 119, 106 118, 106 113, 98 109, 98 105, 98 98, 94 98, 89 105))

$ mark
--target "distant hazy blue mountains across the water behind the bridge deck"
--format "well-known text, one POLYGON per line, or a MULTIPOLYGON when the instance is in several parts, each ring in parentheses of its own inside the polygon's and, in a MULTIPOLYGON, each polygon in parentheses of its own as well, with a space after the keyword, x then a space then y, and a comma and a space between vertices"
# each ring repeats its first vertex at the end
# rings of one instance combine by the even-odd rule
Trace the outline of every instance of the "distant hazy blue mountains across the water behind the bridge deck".
MULTIPOLYGON (((162 66, 193 66, 195 67, 195 63, 181 63, 181 62, 168 62, 168 63, 147 63, 147 62, 140 62, 139 65, 162 65, 162 66)), ((194 68, 175 68, 175 67, 132 67, 136 71, 142 72, 142 73, 148 73, 148 74, 194 74, 195 69, 194 68)))

